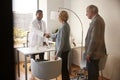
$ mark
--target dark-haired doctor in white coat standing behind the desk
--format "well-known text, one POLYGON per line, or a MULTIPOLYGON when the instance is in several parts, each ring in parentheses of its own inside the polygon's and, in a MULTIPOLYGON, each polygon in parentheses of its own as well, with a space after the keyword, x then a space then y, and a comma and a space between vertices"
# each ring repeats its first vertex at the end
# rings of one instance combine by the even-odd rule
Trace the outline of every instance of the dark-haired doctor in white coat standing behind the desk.
MULTIPOLYGON (((40 46, 47 46, 46 43, 46 25, 45 22, 42 20, 43 18, 43 11, 37 10, 36 11, 36 19, 32 22, 32 27, 30 31, 30 47, 37 47, 40 46)), ((31 55, 31 58, 35 59, 35 54, 31 55)), ((39 60, 44 60, 44 53, 39 54, 39 60)))

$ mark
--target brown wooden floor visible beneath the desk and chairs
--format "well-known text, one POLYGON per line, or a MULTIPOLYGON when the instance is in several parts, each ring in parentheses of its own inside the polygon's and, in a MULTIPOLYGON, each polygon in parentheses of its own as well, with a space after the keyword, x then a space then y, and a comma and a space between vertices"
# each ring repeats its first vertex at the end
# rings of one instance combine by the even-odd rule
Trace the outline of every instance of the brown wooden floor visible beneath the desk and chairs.
MULTIPOLYGON (((16 65, 16 80, 25 80, 25 71, 24 71, 23 64, 24 64, 23 62, 20 63, 20 77, 17 77, 17 65, 16 65)), ((28 69, 28 80, 40 80, 31 75, 31 72, 29 71, 30 63, 28 63, 27 66, 28 66, 28 68, 27 68, 28 69)), ((70 73, 71 80, 77 80, 77 79, 75 79, 75 77, 76 77, 75 71, 79 71, 79 70, 80 70, 79 66, 76 66, 76 65, 71 66, 71 73, 70 73)), ((87 73, 85 73, 85 74, 87 74, 87 73)), ((56 79, 52 79, 52 80, 56 80, 56 79)), ((61 75, 58 76, 57 80, 62 80, 61 75)), ((102 78, 100 77, 99 80, 102 80, 102 78)), ((108 80, 108 79, 104 78, 103 80, 108 80)))

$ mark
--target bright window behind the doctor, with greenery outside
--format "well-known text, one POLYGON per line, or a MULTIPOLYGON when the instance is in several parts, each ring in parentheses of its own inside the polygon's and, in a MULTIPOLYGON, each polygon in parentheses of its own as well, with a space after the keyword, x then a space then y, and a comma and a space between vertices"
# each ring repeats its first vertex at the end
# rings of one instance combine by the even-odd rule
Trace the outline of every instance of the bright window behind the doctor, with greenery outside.
POLYGON ((36 10, 37 0, 13 0, 14 47, 22 47, 26 43, 36 10))

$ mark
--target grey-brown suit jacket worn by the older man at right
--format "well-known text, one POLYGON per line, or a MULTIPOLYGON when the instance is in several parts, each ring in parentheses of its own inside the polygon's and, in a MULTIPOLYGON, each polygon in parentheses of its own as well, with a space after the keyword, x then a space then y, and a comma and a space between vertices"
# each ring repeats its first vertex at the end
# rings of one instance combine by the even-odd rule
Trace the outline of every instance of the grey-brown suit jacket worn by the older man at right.
POLYGON ((105 23, 100 15, 96 15, 90 27, 85 40, 85 53, 92 59, 100 59, 106 54, 104 40, 105 23))

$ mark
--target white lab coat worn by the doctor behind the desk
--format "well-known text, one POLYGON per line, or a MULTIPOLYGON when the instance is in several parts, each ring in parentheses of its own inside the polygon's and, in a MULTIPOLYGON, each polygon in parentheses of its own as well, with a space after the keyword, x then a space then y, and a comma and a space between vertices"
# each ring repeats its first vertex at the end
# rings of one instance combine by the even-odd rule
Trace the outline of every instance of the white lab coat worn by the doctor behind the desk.
POLYGON ((32 22, 32 27, 29 34, 30 47, 43 46, 43 42, 46 42, 44 33, 47 32, 45 22, 43 20, 38 21, 35 19, 32 22))

